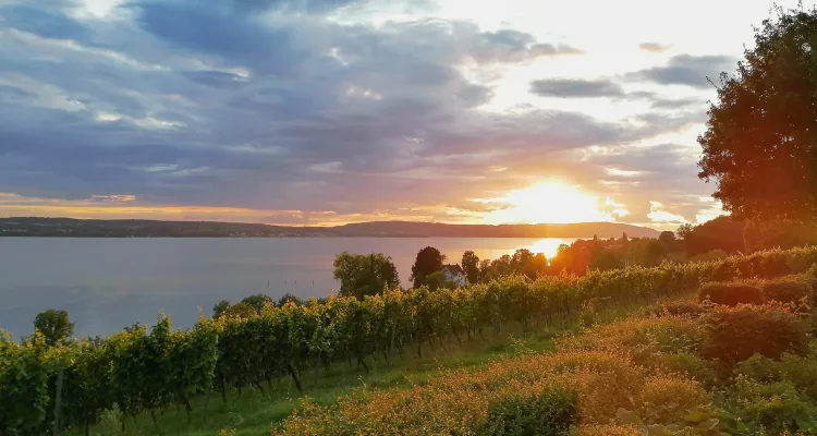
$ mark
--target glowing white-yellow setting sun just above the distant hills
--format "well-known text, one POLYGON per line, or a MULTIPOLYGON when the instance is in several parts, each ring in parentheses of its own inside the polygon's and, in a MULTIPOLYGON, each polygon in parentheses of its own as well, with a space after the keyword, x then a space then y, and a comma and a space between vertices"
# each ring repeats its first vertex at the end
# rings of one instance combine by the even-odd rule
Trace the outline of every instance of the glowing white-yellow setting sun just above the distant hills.
MULTIPOLYGON (((610 204, 599 197, 583 193, 578 186, 560 182, 540 182, 522 190, 513 190, 497 198, 477 199, 495 205, 497 209, 485 214, 489 223, 569 223, 612 221, 613 213, 606 211, 610 204)), ((624 215, 618 210, 615 215, 624 215)))

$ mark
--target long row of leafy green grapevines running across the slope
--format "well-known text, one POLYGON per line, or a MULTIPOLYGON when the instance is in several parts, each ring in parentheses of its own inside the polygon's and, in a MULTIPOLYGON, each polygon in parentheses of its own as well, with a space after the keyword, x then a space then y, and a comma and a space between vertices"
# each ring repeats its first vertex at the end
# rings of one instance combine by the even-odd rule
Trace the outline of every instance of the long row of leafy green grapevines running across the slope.
POLYGON ((110 410, 124 426, 129 416, 173 405, 190 412, 194 397, 225 400, 228 389, 270 389, 283 377, 300 389, 304 372, 336 362, 368 371, 373 356, 422 355, 442 339, 478 340, 510 323, 533 328, 589 306, 650 303, 706 282, 803 272, 816 262, 817 249, 776 250, 582 277, 504 277, 435 292, 386 289, 363 301, 330 296, 268 305, 247 318, 202 316, 186 331, 160 316, 149 330, 56 348, 36 334, 23 343, 0 338, 0 434, 87 433, 110 410))

